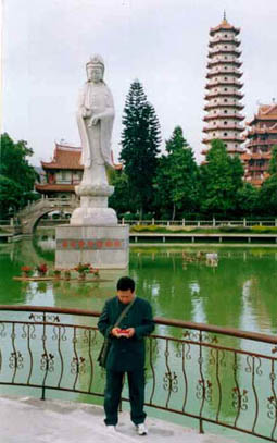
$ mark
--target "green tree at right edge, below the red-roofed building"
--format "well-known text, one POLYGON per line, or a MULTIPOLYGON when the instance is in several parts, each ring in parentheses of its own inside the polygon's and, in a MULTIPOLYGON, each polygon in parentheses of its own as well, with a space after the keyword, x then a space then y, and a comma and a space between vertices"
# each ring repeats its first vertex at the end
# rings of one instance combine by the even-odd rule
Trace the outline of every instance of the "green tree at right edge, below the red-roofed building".
POLYGON ((277 214, 277 146, 273 146, 268 167, 269 176, 260 190, 260 209, 265 214, 277 214))

